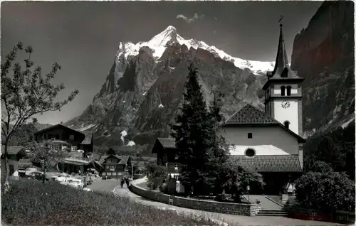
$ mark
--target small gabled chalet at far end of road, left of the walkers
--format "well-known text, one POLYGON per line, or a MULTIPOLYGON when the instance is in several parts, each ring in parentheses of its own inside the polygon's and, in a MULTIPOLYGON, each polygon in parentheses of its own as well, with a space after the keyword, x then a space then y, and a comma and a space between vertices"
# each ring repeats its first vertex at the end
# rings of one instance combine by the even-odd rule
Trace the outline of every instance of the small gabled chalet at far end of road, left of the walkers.
POLYGON ((132 163, 130 156, 105 155, 99 160, 103 166, 102 178, 122 178, 131 176, 132 163))

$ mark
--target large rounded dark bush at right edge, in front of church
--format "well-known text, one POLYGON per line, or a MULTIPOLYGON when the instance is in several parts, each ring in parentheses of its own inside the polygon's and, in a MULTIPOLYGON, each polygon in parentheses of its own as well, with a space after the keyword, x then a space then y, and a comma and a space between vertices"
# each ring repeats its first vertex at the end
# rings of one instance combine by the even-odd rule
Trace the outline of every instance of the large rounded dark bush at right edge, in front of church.
POLYGON ((345 173, 308 172, 295 181, 295 198, 305 208, 354 211, 355 183, 345 173))

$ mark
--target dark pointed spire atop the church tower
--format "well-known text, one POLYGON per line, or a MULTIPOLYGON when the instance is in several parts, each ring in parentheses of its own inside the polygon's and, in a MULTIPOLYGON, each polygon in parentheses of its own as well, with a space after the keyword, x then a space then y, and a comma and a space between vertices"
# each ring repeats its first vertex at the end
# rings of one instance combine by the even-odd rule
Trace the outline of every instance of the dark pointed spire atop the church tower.
POLYGON ((279 33, 276 65, 274 66, 273 76, 274 75, 281 76, 282 72, 283 72, 283 70, 285 70, 285 68, 289 69, 288 55, 287 55, 286 45, 284 45, 284 38, 283 38, 282 19, 283 19, 283 16, 281 16, 281 19, 278 21, 280 23, 279 26, 281 27, 281 30, 279 33))

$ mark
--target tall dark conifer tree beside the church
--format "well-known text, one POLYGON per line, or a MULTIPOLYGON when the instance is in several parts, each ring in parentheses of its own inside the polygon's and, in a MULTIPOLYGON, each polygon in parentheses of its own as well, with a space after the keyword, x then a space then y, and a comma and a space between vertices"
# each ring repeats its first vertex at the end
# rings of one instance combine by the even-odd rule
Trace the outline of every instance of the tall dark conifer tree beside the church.
MULTIPOLYGON (((206 108, 197 69, 191 64, 185 85, 184 103, 172 126, 172 136, 176 140, 178 160, 182 163, 180 181, 187 193, 204 193, 208 176, 209 149, 214 140, 214 124, 206 108)), ((208 188, 209 190, 209 188, 208 188)))

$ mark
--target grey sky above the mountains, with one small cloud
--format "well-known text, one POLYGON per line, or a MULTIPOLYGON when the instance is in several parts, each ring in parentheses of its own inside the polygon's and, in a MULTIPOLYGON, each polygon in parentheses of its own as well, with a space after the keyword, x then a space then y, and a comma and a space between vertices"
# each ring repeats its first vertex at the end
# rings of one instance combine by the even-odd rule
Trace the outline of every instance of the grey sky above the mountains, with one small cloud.
MULTIPOLYGON (((276 60, 279 26, 288 52, 322 1, 11 1, 1 2, 1 58, 21 41, 33 47, 31 60, 43 73, 53 63, 64 83, 58 99, 79 94, 61 112, 38 115, 58 124, 80 115, 105 82, 120 41, 148 41, 167 26, 184 38, 215 45, 246 60, 276 60)), ((23 60, 26 55, 19 55, 23 60)))

